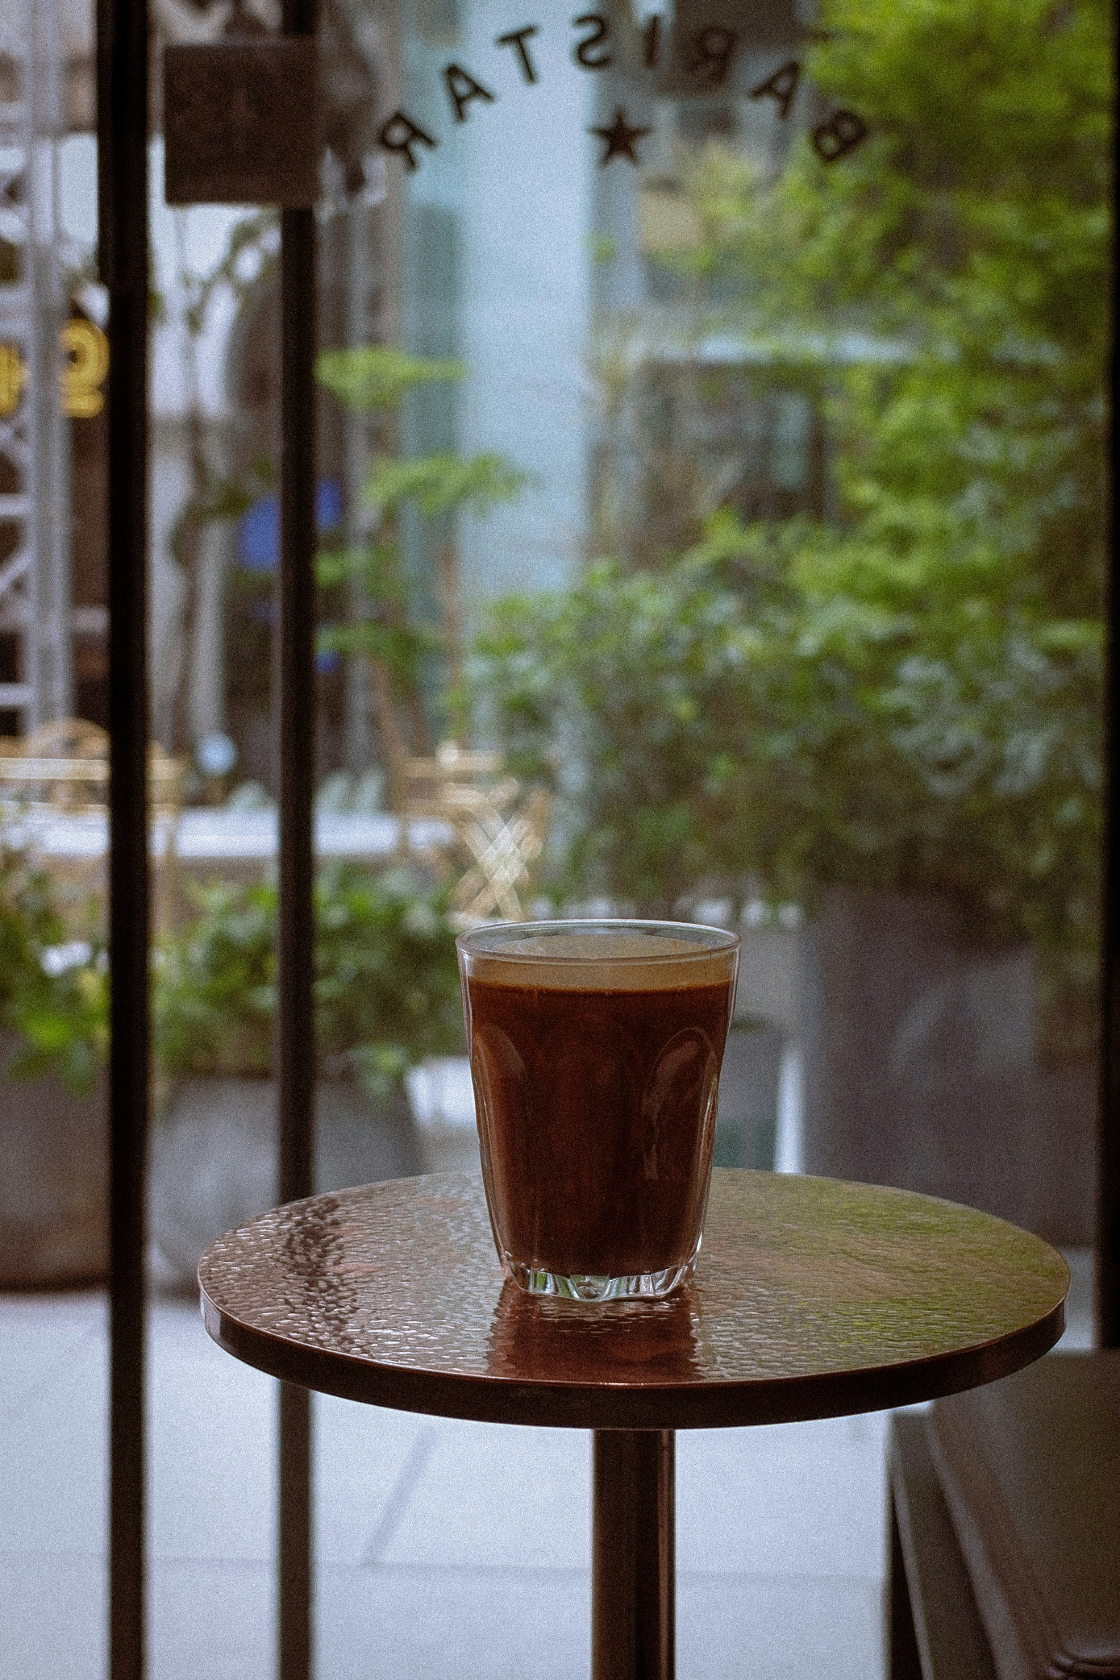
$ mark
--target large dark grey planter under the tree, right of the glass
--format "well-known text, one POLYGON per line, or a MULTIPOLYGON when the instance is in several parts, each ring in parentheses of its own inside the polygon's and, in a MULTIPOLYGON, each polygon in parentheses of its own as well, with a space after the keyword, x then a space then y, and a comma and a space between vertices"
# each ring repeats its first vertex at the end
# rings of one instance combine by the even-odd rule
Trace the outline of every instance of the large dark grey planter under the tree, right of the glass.
POLYGON ((808 1173, 1091 1242, 1095 1070, 1041 1067, 1034 961, 947 899, 833 892, 801 939, 808 1173))

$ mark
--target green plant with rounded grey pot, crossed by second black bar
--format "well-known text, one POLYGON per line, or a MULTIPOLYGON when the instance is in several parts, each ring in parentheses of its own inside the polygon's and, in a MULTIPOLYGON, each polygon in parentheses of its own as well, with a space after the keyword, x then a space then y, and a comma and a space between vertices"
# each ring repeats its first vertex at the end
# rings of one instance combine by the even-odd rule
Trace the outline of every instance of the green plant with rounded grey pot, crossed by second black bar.
MULTIPOLYGON (((277 1196, 277 889, 213 884, 156 951, 161 1084, 151 1221, 193 1275, 207 1243, 277 1196)), ((443 892, 408 869, 343 864, 316 885, 316 1188, 420 1171, 405 1074, 462 1043, 443 892)))

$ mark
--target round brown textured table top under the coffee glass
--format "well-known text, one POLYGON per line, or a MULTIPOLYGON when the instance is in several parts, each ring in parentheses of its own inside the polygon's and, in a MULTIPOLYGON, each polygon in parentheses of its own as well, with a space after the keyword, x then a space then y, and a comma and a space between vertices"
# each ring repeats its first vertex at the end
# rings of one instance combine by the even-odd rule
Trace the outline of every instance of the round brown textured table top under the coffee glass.
POLYGON ((198 1267, 213 1339, 289 1383, 568 1428, 824 1418, 976 1388, 1065 1327, 1028 1231, 902 1189, 717 1169, 693 1282, 658 1302, 524 1295, 472 1173, 262 1213, 198 1267))

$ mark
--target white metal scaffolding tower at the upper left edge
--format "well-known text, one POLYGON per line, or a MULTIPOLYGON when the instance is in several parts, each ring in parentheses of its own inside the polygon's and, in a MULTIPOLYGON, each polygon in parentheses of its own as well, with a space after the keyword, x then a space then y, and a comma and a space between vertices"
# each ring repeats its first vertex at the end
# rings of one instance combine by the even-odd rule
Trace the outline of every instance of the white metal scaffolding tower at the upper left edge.
POLYGON ((59 22, 57 0, 7 0, 0 12, 0 635, 20 647, 0 711, 17 711, 22 731, 74 706, 59 22))

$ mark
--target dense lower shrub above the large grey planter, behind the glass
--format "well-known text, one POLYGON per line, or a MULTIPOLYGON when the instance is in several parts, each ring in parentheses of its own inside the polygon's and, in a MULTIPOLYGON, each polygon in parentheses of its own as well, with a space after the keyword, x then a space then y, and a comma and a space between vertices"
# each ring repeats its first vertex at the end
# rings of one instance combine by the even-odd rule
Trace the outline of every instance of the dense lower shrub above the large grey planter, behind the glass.
POLYGON ((474 679, 510 768, 557 788, 557 894, 952 892, 1088 984, 1100 657, 1093 620, 722 516, 675 564, 500 603, 474 679))

